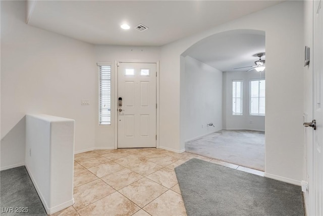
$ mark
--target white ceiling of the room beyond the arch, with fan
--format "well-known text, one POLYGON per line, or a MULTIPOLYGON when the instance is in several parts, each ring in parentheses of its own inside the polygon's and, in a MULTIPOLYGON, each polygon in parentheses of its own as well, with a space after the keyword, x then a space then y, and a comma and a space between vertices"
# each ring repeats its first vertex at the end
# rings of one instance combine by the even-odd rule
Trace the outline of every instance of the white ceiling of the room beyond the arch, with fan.
MULTIPOLYGON (((185 55, 197 59, 221 71, 247 71, 265 52, 265 32, 257 30, 233 30, 209 36, 189 48, 185 55)), ((265 56, 261 57, 262 60, 265 56)))

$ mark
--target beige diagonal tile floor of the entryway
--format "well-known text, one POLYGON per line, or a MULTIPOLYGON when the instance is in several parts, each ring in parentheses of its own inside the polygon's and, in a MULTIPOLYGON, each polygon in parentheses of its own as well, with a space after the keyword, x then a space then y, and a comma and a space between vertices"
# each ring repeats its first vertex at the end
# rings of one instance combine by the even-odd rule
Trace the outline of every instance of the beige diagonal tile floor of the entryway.
POLYGON ((263 172, 163 149, 94 150, 75 155, 75 204, 53 215, 186 215, 174 168, 191 158, 263 176, 263 172))

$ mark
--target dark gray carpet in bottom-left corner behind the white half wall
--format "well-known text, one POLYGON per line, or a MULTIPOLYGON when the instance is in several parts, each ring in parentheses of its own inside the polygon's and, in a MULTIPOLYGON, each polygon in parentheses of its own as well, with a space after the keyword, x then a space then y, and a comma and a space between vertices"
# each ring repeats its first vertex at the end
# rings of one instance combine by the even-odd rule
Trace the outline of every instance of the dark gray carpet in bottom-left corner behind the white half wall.
POLYGON ((25 166, 3 170, 0 177, 1 215, 47 215, 25 166))

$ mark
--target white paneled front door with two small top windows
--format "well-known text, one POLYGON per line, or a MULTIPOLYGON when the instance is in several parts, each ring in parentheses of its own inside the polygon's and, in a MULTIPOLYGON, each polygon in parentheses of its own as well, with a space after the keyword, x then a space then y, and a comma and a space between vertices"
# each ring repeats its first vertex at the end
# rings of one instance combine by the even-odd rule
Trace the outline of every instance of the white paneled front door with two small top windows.
POLYGON ((118 148, 156 147, 156 63, 118 63, 118 148))

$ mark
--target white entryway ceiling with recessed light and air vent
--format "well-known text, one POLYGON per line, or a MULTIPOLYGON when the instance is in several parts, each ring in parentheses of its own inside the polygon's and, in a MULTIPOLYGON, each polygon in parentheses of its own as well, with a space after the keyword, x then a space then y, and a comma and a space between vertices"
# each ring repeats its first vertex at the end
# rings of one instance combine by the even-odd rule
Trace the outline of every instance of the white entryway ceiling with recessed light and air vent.
POLYGON ((162 46, 281 2, 29 1, 28 24, 95 45, 162 46))

